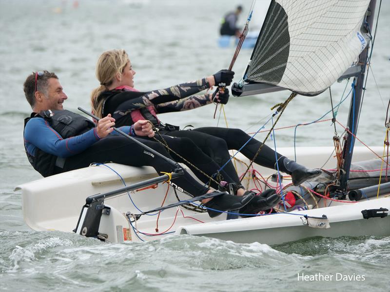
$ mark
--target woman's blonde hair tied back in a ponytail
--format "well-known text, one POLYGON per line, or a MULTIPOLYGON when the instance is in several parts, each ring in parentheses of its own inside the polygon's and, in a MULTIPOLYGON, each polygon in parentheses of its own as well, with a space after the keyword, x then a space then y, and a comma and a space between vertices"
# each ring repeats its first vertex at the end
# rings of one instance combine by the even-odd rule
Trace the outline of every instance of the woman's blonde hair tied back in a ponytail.
POLYGON ((113 84, 115 75, 122 74, 129 62, 129 56, 123 49, 106 51, 100 55, 96 65, 96 77, 100 86, 91 93, 92 111, 96 116, 102 118, 103 98, 99 98, 101 92, 113 84))

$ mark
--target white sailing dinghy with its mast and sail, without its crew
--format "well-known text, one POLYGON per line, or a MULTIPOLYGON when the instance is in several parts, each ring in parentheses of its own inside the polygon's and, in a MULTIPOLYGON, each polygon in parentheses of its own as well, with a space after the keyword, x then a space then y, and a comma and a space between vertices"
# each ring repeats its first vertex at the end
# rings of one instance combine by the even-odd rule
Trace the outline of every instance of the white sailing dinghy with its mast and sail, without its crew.
MULTIPOLYGON (((374 10, 374 0, 271 1, 234 94, 288 89, 316 95, 336 80, 353 78, 343 145, 335 137, 335 148, 278 149, 307 167, 321 167, 324 175, 296 188, 274 170, 234 155, 247 189, 273 187, 281 193, 283 200, 273 210, 230 220, 232 215, 224 212, 211 219, 198 201, 192 202, 173 183, 164 183, 170 175, 157 176, 151 167, 97 164, 18 186, 27 225, 107 242, 147 241, 170 234, 267 244, 314 236, 389 236, 388 157, 376 154, 382 147, 354 146, 374 10)), ((275 115, 283 110, 282 105, 275 115)))

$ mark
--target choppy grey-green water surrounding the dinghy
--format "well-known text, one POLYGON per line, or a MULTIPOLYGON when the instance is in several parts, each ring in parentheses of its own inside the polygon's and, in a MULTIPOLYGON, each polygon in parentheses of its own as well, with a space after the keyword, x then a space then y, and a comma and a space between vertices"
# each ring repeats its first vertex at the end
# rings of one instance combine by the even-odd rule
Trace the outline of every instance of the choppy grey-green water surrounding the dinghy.
MULTIPOLYGON (((108 49, 127 50, 139 90, 215 73, 228 67, 234 53, 234 48, 216 45, 220 16, 237 3, 79 1, 76 9, 73 1, 0 1, 1 290, 390 289, 389 237, 312 238, 275 247, 189 236, 105 244, 74 234, 35 232, 23 222, 21 194, 13 189, 40 177, 28 164, 22 145, 23 118, 30 112, 22 91, 27 74, 45 69, 56 72, 69 97, 65 108, 76 111, 78 106, 89 108, 89 93, 98 86, 95 63, 108 49), (297 280, 298 273, 365 275, 365 281, 302 282, 297 280)), ((250 3, 243 2, 245 13, 250 3)), ((358 137, 370 146, 382 146, 385 136, 383 125, 390 96, 389 32, 390 2, 384 0, 372 57, 373 74, 358 130, 358 137)), ((241 51, 234 65, 235 81, 250 55, 250 50, 241 51)), ((345 83, 332 87, 334 103, 340 100, 344 87, 345 83)), ((225 107, 229 126, 257 130, 269 108, 286 98, 286 92, 232 97, 225 107)), ((346 101, 339 108, 341 123, 346 121, 348 107, 346 101)), ((285 110, 278 126, 308 123, 330 109, 328 93, 299 97, 285 110)), ((171 124, 197 127, 216 125, 213 113, 214 107, 208 106, 161 118, 171 124)), ((329 122, 298 128, 296 144, 331 146, 333 132, 329 122)), ((276 135, 278 146, 293 146, 293 130, 276 135)))

